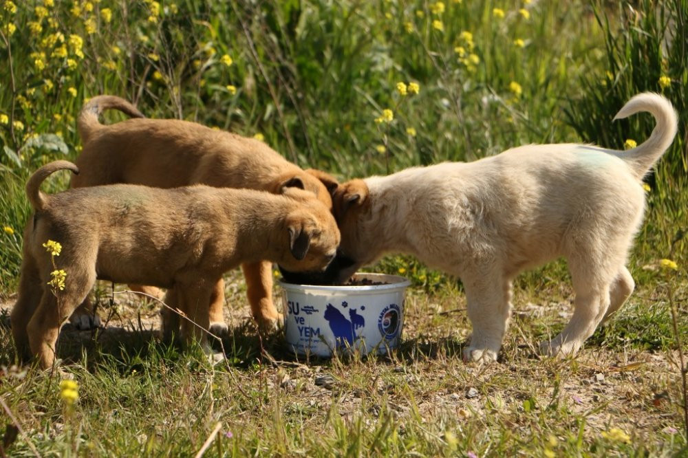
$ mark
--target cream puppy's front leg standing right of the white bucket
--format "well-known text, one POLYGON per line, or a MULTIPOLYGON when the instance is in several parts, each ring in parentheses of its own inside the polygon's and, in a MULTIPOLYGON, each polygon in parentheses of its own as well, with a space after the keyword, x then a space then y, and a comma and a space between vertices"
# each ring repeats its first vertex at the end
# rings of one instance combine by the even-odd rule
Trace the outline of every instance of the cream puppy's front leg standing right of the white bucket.
POLYGON ((483 273, 462 278, 473 325, 471 344, 464 349, 464 360, 492 362, 497 360, 508 326, 512 286, 496 268, 483 273))

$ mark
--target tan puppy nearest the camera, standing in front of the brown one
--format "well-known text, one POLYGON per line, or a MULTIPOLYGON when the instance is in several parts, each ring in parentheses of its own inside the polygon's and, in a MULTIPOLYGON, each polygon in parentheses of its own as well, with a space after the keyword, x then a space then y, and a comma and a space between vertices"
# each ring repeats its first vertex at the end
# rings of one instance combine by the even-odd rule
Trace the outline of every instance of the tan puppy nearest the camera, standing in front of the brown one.
MULTIPOLYGON (((64 168, 78 173, 71 162, 51 162, 26 185, 34 215, 24 230, 11 316, 19 354, 37 356, 44 368, 54 362, 62 323, 96 278, 171 288, 176 303, 170 305, 208 329, 208 303, 224 272, 262 260, 323 270, 339 243, 330 209, 307 191, 116 184, 43 195, 43 179, 64 168), (62 246, 54 261, 67 274, 64 290, 48 285, 55 269, 43 246, 48 240, 62 246)), ((186 320, 181 336, 209 351, 204 332, 186 320)))

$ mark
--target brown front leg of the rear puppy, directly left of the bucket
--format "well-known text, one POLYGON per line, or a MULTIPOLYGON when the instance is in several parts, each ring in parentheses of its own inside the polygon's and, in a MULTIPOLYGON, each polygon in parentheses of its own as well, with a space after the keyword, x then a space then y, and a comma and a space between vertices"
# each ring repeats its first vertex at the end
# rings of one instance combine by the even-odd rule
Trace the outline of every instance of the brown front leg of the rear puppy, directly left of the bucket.
POLYGON ((272 302, 272 263, 261 261, 241 264, 241 270, 246 278, 248 303, 258 327, 266 331, 275 329, 282 316, 272 302))

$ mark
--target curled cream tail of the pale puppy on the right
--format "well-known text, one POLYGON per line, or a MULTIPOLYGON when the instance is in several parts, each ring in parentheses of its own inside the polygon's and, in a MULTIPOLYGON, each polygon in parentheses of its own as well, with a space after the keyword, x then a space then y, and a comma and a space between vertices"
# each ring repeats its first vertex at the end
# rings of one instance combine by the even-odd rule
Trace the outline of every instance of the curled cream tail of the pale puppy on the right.
POLYGON ((655 162, 667 151, 676 136, 676 111, 671 102, 652 92, 645 92, 634 96, 616 113, 614 120, 627 118, 632 114, 647 111, 657 124, 645 142, 634 149, 619 152, 619 157, 627 162, 635 171, 638 179, 649 171, 655 162))

